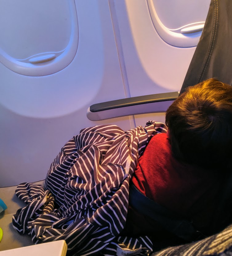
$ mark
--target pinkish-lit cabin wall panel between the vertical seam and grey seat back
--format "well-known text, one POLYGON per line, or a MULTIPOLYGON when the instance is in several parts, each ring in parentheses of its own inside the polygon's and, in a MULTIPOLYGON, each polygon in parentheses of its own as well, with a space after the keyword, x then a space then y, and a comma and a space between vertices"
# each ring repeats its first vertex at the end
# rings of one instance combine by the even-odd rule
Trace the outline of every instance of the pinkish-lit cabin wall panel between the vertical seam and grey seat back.
MULTIPOLYGON (((159 7, 161 15, 159 18, 162 18, 162 22, 167 21, 172 28, 177 28, 181 24, 186 25, 191 22, 204 23, 210 0, 188 2, 110 0, 109 2, 111 2, 110 8, 114 9, 118 19, 130 96, 179 91, 201 32, 173 33, 174 35, 170 33, 169 38, 161 38, 157 32, 158 28, 152 21, 151 7, 156 4, 159 7), (168 5, 172 8, 168 8, 168 5), (151 6, 150 9, 149 6, 151 6)), ((147 120, 165 122, 165 113, 134 117, 136 126, 145 124, 147 120)))

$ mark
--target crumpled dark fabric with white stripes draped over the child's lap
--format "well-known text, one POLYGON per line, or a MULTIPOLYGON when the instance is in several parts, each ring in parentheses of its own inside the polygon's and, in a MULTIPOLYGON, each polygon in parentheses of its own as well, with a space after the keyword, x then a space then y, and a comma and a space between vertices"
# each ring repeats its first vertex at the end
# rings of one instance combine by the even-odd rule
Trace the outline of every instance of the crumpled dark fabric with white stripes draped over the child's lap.
POLYGON ((45 187, 18 185, 16 195, 26 207, 13 216, 14 229, 31 234, 34 244, 63 239, 69 254, 149 255, 148 237, 118 235, 138 158, 161 132, 165 124, 154 121, 127 132, 114 125, 81 130, 52 162, 45 187))

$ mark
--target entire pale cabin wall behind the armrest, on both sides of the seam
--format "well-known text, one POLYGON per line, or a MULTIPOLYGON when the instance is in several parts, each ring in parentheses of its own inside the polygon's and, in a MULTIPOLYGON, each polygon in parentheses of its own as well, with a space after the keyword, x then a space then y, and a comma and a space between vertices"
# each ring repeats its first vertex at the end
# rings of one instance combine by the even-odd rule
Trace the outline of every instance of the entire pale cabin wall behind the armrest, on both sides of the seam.
MULTIPOLYGON (((90 121, 86 117, 87 108, 94 103, 180 90, 197 43, 180 47, 162 39, 148 7, 149 2, 155 1, 159 2, 159 9, 166 5, 163 0, 59 1, 74 6, 74 10, 70 15, 57 16, 64 27, 61 33, 56 28, 58 34, 53 37, 47 27, 43 30, 40 26, 46 26, 41 22, 43 15, 49 21, 46 5, 55 6, 57 0, 41 0, 39 6, 44 5, 46 11, 38 10, 40 7, 36 2, 33 6, 30 0, 24 2, 26 11, 25 6, 21 10, 16 5, 17 0, 0 2, 1 17, 11 6, 17 14, 14 20, 14 12, 9 12, 4 16, 8 23, 0 25, 0 31, 6 35, 0 39, 0 187, 44 179, 61 147, 82 128, 117 124, 127 130, 145 125, 147 120, 165 121, 164 113, 103 121, 90 121), (29 10, 30 6, 33 10, 29 10), (28 20, 27 11, 32 11, 28 20), (22 20, 20 12, 24 15, 22 20), (74 43, 63 49, 71 42, 72 35, 74 43), (57 57, 30 64, 28 60, 33 54, 41 57, 41 49, 45 53, 54 52, 57 57)), ((202 8, 195 9, 204 12, 201 17, 206 18, 210 0, 190 2, 203 3, 202 8)), ((49 10, 54 12, 56 8, 50 6, 49 10)), ((68 13, 68 7, 64 11, 68 13)), ((54 13, 51 16, 56 17, 54 13)))

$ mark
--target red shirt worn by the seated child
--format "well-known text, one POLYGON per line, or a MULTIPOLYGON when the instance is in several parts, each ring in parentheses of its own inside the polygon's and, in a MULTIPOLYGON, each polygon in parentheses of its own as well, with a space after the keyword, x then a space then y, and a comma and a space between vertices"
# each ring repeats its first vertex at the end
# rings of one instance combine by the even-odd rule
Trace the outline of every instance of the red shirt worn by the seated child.
MULTIPOLYGON (((156 203, 191 218, 199 229, 210 225, 218 177, 208 170, 177 161, 166 133, 151 138, 131 182, 156 203)), ((140 233, 142 227, 142 233, 146 234, 146 230, 151 229, 150 220, 138 220, 138 216, 138 212, 129 207, 126 229, 137 233, 136 223, 140 221, 137 231, 140 233)))

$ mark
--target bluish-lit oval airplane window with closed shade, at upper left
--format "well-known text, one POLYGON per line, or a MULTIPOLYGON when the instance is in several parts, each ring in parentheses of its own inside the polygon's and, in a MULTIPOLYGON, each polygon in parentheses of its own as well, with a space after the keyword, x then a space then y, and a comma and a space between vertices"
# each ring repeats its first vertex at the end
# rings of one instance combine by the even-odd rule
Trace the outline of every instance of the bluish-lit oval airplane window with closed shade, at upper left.
POLYGON ((0 62, 12 71, 44 76, 64 69, 78 47, 74 0, 0 2, 0 62))

